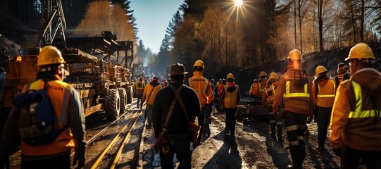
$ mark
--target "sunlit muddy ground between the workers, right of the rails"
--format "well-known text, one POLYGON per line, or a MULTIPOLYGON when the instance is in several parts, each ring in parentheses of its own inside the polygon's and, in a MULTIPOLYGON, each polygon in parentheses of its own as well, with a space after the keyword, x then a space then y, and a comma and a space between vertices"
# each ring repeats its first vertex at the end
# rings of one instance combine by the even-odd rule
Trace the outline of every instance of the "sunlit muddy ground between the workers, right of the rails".
MULTIPOLYGON (((201 146, 197 146, 192 154, 192 168, 287 168, 291 156, 285 143, 268 135, 268 122, 251 120, 242 124, 237 121, 235 138, 223 134, 225 115, 213 111, 211 137, 201 146)), ((324 152, 316 150, 317 126, 308 124, 311 135, 306 139, 306 159, 303 168, 339 168, 339 158, 332 152, 327 140, 324 152)), ((285 130, 283 140, 287 139, 285 130)), ((158 168, 158 155, 151 149, 154 142, 152 132, 145 132, 144 142, 146 164, 144 168, 158 168)), ((178 164, 178 163, 177 163, 178 164)))

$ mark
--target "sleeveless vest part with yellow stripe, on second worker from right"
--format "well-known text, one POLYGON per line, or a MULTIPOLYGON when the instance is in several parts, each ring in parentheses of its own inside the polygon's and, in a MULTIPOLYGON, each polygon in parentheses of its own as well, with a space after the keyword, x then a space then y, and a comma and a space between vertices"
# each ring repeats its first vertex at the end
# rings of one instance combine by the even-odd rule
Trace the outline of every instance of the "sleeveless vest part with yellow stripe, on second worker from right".
POLYGON ((322 107, 332 107, 335 101, 336 82, 328 80, 322 87, 318 84, 318 94, 316 95, 316 105, 322 107))

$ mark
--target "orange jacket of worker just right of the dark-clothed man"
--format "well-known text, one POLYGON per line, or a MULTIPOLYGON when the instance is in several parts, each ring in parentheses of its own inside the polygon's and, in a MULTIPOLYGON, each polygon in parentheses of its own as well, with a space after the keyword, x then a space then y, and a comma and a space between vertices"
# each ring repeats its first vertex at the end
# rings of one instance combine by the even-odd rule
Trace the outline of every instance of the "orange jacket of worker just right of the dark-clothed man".
POLYGON ((211 103, 214 99, 213 90, 209 81, 202 76, 202 73, 196 71, 193 73, 193 77, 188 79, 189 87, 192 87, 199 96, 201 107, 205 107, 205 104, 211 103))

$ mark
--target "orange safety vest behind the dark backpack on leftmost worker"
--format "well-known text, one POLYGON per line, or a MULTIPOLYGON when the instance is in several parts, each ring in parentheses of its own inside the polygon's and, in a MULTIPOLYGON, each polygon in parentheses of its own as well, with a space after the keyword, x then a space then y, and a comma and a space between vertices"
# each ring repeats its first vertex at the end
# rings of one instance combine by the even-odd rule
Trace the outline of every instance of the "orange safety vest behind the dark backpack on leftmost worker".
MULTIPOLYGON (((44 89, 44 81, 36 80, 30 84, 27 84, 23 88, 23 93, 27 90, 34 89, 44 89)), ((70 89, 71 85, 61 80, 52 80, 48 82, 49 89, 48 95, 51 98, 51 104, 54 107, 54 113, 56 113, 56 124, 54 127, 62 129, 68 125, 68 113, 69 113, 69 100, 70 100, 70 89), (53 99, 54 98, 54 99, 53 99)), ((23 112, 23 108, 21 109, 23 112)), ((73 134, 68 129, 63 130, 54 142, 39 146, 28 146, 21 140, 21 154, 25 156, 44 156, 50 154, 59 154, 63 151, 70 151, 73 148, 73 134)))

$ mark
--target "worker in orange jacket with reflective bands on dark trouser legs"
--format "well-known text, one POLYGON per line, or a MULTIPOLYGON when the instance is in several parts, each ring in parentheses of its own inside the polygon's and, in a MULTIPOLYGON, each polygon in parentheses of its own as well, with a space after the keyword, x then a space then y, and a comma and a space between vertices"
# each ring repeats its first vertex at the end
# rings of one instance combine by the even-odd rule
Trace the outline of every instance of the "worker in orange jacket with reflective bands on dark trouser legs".
POLYGON ((301 69, 301 53, 294 49, 289 52, 286 72, 279 79, 273 102, 273 113, 277 116, 277 108, 283 99, 285 127, 289 142, 292 165, 287 168, 302 168, 306 158, 304 132, 306 122, 311 122, 313 97, 311 79, 301 69))

